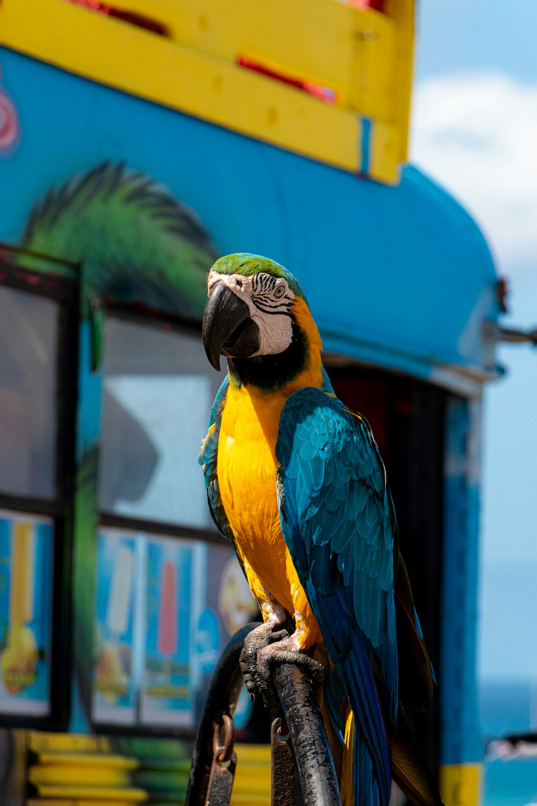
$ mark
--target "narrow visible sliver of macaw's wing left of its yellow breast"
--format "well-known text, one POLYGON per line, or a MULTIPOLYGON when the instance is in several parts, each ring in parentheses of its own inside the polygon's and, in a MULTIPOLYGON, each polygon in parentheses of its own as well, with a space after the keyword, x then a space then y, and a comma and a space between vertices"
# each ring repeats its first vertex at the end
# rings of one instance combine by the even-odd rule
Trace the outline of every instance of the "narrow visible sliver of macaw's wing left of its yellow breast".
POLYGON ((224 505, 222 504, 220 490, 218 488, 217 459, 218 459, 218 438, 220 437, 220 426, 222 422, 222 411, 225 406, 225 396, 228 391, 229 376, 225 376, 221 387, 218 389, 217 397, 214 398, 213 408, 209 415, 209 425, 207 426, 207 436, 204 438, 198 462, 200 463, 205 478, 205 489, 207 490, 207 501, 213 516, 213 521, 218 530, 229 540, 235 548, 235 537, 224 505))

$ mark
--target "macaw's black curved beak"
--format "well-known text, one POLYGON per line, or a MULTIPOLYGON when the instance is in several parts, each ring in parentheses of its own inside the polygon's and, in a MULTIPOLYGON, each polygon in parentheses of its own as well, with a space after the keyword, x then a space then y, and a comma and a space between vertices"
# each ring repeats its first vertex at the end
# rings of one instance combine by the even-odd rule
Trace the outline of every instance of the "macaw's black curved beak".
POLYGON ((259 349, 259 330, 250 319, 246 302, 227 285, 213 285, 203 315, 203 343, 207 358, 220 372, 220 356, 248 358, 259 349))

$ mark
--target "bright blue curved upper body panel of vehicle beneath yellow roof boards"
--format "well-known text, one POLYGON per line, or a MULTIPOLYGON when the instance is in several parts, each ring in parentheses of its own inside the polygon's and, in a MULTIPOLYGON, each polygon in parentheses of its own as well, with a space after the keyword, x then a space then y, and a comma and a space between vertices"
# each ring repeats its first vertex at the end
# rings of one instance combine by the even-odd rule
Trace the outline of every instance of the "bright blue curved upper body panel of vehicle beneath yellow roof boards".
POLYGON ((0 239, 19 239, 49 186, 102 160, 162 181, 221 254, 287 265, 328 351, 427 378, 493 367, 494 264, 472 218, 418 170, 397 187, 354 177, 0 49, 19 113, 0 163, 0 239), (14 192, 16 189, 16 192, 14 192))

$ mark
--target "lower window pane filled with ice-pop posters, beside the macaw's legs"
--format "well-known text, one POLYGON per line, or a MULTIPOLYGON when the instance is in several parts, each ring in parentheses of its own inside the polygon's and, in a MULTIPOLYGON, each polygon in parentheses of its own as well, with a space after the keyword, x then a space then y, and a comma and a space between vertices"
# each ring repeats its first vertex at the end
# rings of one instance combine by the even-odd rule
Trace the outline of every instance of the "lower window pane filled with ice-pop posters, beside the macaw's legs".
POLYGON ((229 546, 102 527, 93 722, 195 727, 225 644, 257 609, 229 546))

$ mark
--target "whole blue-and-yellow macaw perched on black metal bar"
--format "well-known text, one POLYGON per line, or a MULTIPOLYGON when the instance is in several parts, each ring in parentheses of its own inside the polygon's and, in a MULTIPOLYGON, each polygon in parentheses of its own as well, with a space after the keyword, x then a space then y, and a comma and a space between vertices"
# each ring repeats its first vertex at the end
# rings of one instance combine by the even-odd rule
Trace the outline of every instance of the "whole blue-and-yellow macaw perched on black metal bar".
POLYGON ((246 688, 271 704, 275 663, 324 678, 343 806, 387 806, 392 773, 415 803, 438 804, 399 704, 427 708, 433 672, 370 427, 335 396, 291 272, 239 253, 217 260, 208 288, 204 347, 228 373, 200 463, 262 613, 242 653, 246 688))

